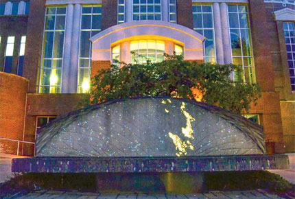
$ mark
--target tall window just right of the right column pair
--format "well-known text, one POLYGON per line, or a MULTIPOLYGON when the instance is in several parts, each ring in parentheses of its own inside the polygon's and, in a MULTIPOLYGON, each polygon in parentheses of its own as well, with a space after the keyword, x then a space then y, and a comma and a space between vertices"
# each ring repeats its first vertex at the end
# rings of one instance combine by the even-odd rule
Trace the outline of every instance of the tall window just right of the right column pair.
POLYGON ((228 20, 233 64, 243 67, 245 82, 255 83, 248 7, 246 5, 228 5, 228 20))

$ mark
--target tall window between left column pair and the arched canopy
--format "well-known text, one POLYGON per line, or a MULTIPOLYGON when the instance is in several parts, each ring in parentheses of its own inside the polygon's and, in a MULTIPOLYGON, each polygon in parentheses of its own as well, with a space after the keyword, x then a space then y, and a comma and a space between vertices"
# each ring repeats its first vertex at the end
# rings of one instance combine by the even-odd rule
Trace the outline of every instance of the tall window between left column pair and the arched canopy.
POLYGON ((78 93, 86 93, 90 87, 91 41, 89 38, 102 30, 102 6, 83 6, 80 33, 78 93))

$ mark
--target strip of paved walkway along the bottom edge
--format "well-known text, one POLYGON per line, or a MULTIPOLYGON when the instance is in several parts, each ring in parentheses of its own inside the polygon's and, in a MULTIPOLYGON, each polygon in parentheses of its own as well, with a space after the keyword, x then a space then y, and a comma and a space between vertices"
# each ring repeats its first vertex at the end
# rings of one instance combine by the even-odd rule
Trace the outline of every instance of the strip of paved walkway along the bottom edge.
POLYGON ((84 198, 130 198, 130 199, 140 199, 140 198, 158 198, 158 199, 169 199, 169 198, 180 198, 180 199, 191 199, 191 198, 281 198, 276 195, 272 195, 263 191, 261 189, 252 190, 252 191, 209 191, 205 194, 95 194, 95 193, 80 193, 80 192, 69 192, 69 191, 36 191, 34 193, 29 193, 25 196, 21 194, 16 194, 10 198, 35 198, 35 199, 45 199, 45 198, 75 198, 75 199, 84 199, 84 198))

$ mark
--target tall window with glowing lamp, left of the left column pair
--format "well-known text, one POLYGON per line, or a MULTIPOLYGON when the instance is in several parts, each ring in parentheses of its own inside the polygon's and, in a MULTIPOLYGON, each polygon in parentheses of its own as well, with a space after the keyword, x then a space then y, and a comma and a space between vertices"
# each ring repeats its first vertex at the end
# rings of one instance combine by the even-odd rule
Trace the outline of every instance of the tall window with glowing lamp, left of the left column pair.
POLYGON ((39 93, 60 93, 67 8, 46 9, 39 93))

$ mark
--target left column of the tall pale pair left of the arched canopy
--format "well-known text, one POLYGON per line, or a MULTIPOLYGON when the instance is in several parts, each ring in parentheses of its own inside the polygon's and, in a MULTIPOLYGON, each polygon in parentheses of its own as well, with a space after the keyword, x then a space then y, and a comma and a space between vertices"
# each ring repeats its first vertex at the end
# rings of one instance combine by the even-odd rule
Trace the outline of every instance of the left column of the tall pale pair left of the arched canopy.
POLYGON ((73 32, 73 4, 67 5, 67 20, 64 36, 64 58, 62 66, 62 93, 69 93, 69 79, 71 67, 71 39, 73 32))

